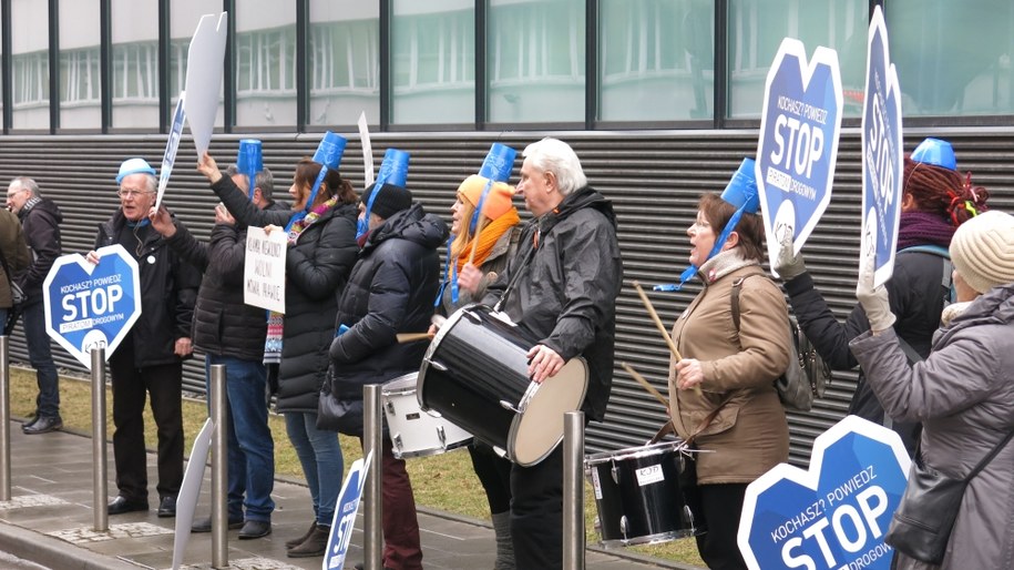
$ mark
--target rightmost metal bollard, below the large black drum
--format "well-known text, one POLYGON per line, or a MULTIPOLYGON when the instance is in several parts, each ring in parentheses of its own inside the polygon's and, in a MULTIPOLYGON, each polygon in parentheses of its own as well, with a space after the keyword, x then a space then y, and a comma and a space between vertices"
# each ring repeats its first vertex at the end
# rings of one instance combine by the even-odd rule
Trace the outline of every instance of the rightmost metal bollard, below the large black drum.
POLYGON ((584 570, 584 413, 563 416, 563 568, 584 570))

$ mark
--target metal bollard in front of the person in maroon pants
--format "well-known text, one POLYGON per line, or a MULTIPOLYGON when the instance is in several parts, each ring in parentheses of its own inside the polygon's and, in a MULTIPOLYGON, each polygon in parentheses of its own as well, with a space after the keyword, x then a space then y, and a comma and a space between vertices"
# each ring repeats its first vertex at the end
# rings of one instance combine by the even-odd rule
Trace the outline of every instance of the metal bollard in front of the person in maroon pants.
POLYGON ((365 570, 380 570, 383 561, 383 532, 380 528, 381 509, 380 477, 383 458, 383 425, 380 415, 380 385, 368 384, 362 387, 362 455, 370 451, 370 469, 362 490, 366 502, 365 528, 362 529, 362 567, 365 570))

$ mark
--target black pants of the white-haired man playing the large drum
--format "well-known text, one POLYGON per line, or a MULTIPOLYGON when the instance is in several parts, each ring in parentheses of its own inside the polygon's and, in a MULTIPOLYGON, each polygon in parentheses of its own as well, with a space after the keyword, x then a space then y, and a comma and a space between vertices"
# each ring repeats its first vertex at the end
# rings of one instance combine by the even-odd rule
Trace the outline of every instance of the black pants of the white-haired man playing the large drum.
POLYGON ((511 468, 511 539, 518 568, 563 567, 563 446, 532 467, 511 468))

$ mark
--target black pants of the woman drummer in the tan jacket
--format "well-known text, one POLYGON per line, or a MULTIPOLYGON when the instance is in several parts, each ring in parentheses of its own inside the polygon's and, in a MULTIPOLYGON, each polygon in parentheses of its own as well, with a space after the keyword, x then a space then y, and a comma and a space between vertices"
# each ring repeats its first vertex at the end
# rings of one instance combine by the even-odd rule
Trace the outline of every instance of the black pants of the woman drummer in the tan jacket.
POLYGON ((700 558, 711 570, 746 570, 736 535, 747 484, 701 485, 700 509, 708 531, 697 537, 700 558))

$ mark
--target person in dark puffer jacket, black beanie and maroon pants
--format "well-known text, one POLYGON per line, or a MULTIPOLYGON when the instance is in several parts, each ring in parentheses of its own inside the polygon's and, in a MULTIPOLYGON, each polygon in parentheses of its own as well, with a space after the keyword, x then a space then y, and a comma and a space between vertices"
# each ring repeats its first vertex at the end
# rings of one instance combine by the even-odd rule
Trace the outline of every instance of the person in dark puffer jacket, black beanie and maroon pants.
MULTIPOLYGON (((328 387, 350 410, 340 430, 362 437, 362 386, 382 384, 419 369, 424 343, 398 344, 398 333, 424 333, 433 314, 440 281, 437 248, 448 237, 447 223, 412 204, 404 187, 370 186, 360 202, 372 201, 369 232, 338 302, 337 328, 331 343, 328 387), (345 329, 344 327, 347 327, 345 329)), ((395 459, 390 438, 383 438, 381 472, 383 567, 422 568, 416 499, 403 459, 395 459)), ((376 460, 376 458, 375 458, 376 460)))

